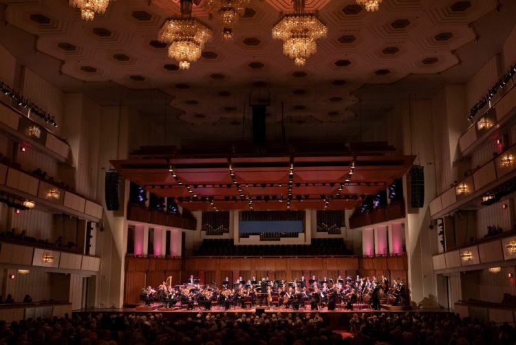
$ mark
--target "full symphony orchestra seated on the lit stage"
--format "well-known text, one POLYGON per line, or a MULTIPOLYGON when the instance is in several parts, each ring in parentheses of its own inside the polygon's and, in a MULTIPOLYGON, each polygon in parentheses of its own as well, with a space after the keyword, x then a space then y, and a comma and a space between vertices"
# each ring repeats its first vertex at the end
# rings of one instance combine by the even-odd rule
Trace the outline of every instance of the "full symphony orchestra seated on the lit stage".
POLYGON ((187 310, 202 307, 210 310, 214 305, 231 308, 246 308, 252 306, 283 307, 284 309, 298 310, 300 306, 309 304, 312 310, 327 307, 329 311, 341 305, 345 309, 352 310, 354 304, 361 307, 369 306, 371 309, 380 309, 380 304, 405 305, 409 304, 409 293, 402 281, 393 279, 389 287, 389 280, 382 276, 376 277, 356 276, 353 280, 347 277, 345 280, 338 276, 332 278, 316 279, 312 276, 306 284, 305 277, 301 280, 294 278, 292 282, 284 280, 269 280, 268 277, 257 280, 255 277, 247 282, 239 277, 233 287, 230 287, 226 277, 222 282, 222 289, 210 285, 200 285, 199 278, 193 275, 184 285, 172 285, 172 277, 166 279, 155 290, 153 287, 144 287, 140 291, 140 300, 145 306, 153 302, 159 302, 164 308, 182 308, 187 310))

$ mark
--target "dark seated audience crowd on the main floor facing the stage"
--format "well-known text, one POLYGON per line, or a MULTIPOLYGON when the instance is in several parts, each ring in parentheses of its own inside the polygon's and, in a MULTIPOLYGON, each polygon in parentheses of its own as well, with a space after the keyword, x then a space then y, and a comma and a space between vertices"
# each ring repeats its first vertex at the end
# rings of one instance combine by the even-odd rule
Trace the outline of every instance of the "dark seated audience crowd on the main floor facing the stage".
MULTIPOLYGON (((343 331, 345 326, 341 329, 343 331)), ((343 339, 318 313, 198 313, 172 321, 153 315, 74 315, 0 322, 0 344, 515 344, 515 329, 451 313, 367 313, 343 339)))

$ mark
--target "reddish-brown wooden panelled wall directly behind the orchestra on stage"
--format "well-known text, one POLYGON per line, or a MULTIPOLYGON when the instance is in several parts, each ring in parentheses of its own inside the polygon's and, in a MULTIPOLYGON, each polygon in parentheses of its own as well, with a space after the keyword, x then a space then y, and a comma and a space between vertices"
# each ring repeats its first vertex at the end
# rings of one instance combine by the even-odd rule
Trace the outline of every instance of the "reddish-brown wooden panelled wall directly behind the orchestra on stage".
MULTIPOLYGON (((352 276, 355 278, 357 272, 361 276, 372 276, 382 274, 391 277, 391 271, 396 271, 397 276, 403 276, 400 272, 406 272, 407 258, 404 256, 396 258, 191 258, 187 259, 182 269, 182 260, 164 260, 166 262, 166 274, 164 270, 153 271, 157 265, 164 267, 161 263, 157 264, 158 259, 133 258, 127 257, 126 274, 140 273, 147 274, 146 281, 140 281, 141 287, 145 284, 157 287, 164 278, 173 276, 175 285, 186 282, 190 274, 203 276, 204 280, 211 282, 217 281, 217 285, 222 286, 222 281, 226 276, 233 284, 241 276, 245 280, 255 276, 257 279, 269 277, 272 279, 292 281, 294 278, 309 278, 315 275, 317 278, 333 278, 340 275, 345 278, 352 276), (149 263, 150 261, 150 263, 149 263), (146 263, 149 263, 147 265, 146 263), (360 269, 359 269, 360 267, 360 269), (376 269, 375 269, 376 267, 376 269), (176 269, 171 269, 176 268, 176 269), (159 280, 159 281, 158 281, 159 280)), ((406 275, 406 274, 405 274, 406 275)), ((137 278, 140 276, 136 276, 137 278)), ((130 276, 128 281, 135 280, 135 276, 130 276)), ((142 278, 139 278, 142 280, 142 278)), ((131 287, 127 282, 126 289, 131 287)), ((140 288, 141 288, 140 287, 140 288)), ((130 299, 130 298, 129 298, 130 299)), ((138 301, 136 301, 138 302, 138 301)), ((133 304, 133 302, 126 302, 133 304)))

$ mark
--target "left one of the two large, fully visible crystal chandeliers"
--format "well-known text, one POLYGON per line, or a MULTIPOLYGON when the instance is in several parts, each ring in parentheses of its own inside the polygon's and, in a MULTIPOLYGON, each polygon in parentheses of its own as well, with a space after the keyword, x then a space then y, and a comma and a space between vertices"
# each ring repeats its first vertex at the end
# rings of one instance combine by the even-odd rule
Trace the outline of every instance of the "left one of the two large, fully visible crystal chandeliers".
POLYGON ((211 34, 208 26, 192 16, 192 1, 181 0, 181 15, 163 24, 158 39, 170 44, 169 57, 179 61, 180 69, 189 69, 201 57, 211 34))

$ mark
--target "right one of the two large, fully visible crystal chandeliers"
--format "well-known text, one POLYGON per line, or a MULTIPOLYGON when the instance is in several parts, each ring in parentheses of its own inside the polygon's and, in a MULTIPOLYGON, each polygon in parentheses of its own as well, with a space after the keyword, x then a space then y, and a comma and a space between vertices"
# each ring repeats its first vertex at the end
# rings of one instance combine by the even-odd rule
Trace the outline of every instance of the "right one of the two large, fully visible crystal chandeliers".
POLYGON ((294 13, 286 14, 272 27, 272 38, 283 41, 283 54, 303 66, 317 52, 316 40, 327 35, 327 27, 316 14, 305 12, 305 0, 294 0, 294 13))

